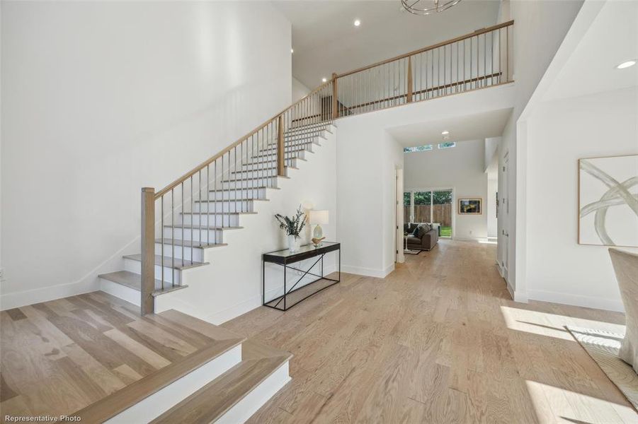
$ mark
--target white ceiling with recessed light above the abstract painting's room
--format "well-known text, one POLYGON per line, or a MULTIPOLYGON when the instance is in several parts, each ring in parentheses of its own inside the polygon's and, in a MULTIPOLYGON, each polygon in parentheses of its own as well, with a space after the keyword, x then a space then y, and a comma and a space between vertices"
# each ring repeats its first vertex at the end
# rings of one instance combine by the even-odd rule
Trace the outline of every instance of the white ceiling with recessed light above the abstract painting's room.
POLYGON ((638 1, 608 1, 559 71, 543 100, 638 86, 638 1))

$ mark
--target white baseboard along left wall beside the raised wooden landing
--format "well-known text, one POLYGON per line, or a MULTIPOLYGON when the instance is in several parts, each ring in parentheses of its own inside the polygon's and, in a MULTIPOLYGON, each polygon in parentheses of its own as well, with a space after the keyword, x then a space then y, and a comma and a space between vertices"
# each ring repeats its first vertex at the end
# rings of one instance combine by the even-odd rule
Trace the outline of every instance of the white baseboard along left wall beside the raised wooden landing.
POLYGON ((51 285, 49 287, 34 288, 16 293, 4 293, 0 295, 0 310, 9 310, 14 307, 33 305, 34 303, 48 302, 69 296, 90 293, 100 289, 98 278, 94 281, 77 281, 76 283, 51 285))

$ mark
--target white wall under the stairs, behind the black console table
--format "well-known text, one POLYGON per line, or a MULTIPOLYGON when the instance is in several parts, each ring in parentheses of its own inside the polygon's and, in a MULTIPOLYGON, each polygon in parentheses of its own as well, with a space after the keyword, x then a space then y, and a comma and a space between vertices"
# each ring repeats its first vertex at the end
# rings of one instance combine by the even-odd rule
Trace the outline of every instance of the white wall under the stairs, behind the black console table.
MULTIPOLYGON (((336 190, 336 136, 321 140, 314 146, 315 153, 307 153, 307 160, 298 161, 297 170, 287 170, 290 179, 279 179, 280 189, 268 189, 269 201, 256 202, 256 214, 239 217, 239 230, 224 232, 225 247, 205 251, 210 265, 187 270, 184 283, 188 288, 176 290, 156 298, 156 309, 181 310, 214 324, 220 324, 261 305, 261 254, 287 247, 285 233, 280 230, 275 213, 291 216, 302 205, 329 211, 329 224, 322 225, 326 241, 338 237, 336 190), (321 178, 317 178, 321 175, 321 178)), ((310 242, 311 228, 302 233, 302 245, 310 242)), ((336 269, 337 253, 326 254, 324 273, 336 269)), ((317 258, 294 264, 298 269, 309 269, 317 258)), ((345 271, 345 270, 344 270, 345 271)), ((319 273, 319 266, 312 272, 319 273)), ((301 273, 287 271, 287 289, 290 290, 301 273)), ((312 277, 312 280, 315 278, 312 277)), ((302 281, 308 282, 310 278, 302 281)), ((300 287, 297 285, 297 288, 300 287)), ((283 293, 283 273, 279 265, 266 266, 266 299, 283 293)))

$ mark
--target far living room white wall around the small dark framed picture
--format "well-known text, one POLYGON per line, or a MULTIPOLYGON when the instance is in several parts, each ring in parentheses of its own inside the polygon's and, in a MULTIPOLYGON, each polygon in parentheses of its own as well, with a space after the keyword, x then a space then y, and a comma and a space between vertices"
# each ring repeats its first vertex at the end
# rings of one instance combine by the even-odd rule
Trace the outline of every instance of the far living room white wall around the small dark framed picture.
POLYGON ((454 148, 404 153, 406 190, 453 189, 452 238, 476 240, 487 237, 487 174, 483 167, 484 140, 459 141, 454 148), (481 215, 459 215, 458 199, 483 199, 481 215))

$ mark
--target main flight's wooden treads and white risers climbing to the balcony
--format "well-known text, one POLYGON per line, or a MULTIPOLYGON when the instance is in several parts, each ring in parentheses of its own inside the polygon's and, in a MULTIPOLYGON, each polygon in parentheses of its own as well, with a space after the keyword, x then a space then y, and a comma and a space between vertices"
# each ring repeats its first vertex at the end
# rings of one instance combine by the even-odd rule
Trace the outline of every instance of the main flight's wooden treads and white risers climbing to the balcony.
MULTIPOLYGON (((330 122, 304 125, 285 133, 285 175, 277 175, 274 143, 236 168, 224 172, 220 188, 211 189, 207 199, 196 199, 193 208, 181 211, 174 222, 161 228, 161 237, 154 239, 153 298, 188 288, 188 273, 200 266, 209 266, 205 251, 226 247, 224 235, 241 231, 241 217, 256 214, 255 205, 268 201, 268 190, 278 189, 279 179, 289 179, 288 170, 298 170, 314 149, 326 141, 334 126, 330 122)), ((187 190, 188 191, 188 190, 187 190)), ((140 305, 142 291, 142 254, 125 255, 124 269, 99 276, 101 290, 140 305)))

